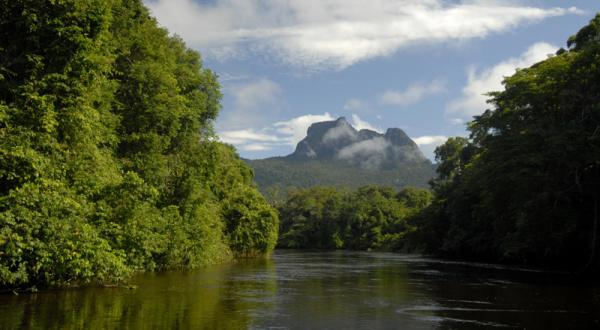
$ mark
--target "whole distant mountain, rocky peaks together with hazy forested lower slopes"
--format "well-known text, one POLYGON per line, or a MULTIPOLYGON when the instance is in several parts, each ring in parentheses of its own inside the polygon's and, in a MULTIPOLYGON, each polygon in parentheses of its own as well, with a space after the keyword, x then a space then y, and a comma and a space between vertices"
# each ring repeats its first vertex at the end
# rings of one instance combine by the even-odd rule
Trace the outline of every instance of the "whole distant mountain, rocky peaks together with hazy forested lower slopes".
POLYGON ((434 165, 401 129, 385 134, 356 130, 344 117, 312 124, 290 155, 246 162, 259 188, 271 196, 315 185, 427 187, 435 174, 434 165))

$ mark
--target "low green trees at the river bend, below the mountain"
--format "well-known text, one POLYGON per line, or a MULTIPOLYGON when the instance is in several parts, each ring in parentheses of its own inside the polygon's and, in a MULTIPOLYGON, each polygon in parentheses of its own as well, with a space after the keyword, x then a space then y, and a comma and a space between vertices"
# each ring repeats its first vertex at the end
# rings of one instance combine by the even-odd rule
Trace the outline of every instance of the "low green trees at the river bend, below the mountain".
POLYGON ((279 246, 400 250, 415 227, 408 220, 429 205, 428 190, 365 186, 356 191, 313 187, 290 193, 278 208, 279 246))

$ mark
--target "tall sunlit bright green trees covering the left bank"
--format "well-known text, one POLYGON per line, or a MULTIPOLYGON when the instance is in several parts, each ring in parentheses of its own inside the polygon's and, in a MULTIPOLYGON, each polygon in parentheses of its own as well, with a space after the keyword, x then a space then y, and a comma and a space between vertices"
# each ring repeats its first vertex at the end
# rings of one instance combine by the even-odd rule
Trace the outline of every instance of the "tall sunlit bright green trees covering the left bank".
POLYGON ((277 214, 212 142, 220 91, 138 0, 1 0, 0 286, 271 250, 277 214))

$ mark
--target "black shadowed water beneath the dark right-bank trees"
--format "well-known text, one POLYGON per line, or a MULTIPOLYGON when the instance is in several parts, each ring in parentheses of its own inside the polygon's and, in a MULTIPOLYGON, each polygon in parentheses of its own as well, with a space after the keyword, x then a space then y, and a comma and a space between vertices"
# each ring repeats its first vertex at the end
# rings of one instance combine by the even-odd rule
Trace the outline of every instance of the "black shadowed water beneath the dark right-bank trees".
POLYGON ((414 258, 431 300, 398 309, 439 329, 600 329, 600 287, 563 275, 414 258))

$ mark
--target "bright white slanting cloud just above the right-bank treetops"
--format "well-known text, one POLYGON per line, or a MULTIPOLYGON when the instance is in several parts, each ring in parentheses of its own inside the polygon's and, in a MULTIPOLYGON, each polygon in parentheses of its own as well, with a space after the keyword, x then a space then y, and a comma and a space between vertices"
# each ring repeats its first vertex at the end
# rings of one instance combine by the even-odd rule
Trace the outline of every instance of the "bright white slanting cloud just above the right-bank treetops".
POLYGON ((468 69, 467 85, 462 89, 462 96, 448 104, 447 112, 465 117, 481 114, 486 108, 488 96, 486 93, 503 90, 502 80, 511 76, 517 68, 526 68, 554 54, 558 47, 539 42, 527 49, 519 57, 509 58, 493 67, 480 71, 473 67, 468 69))

